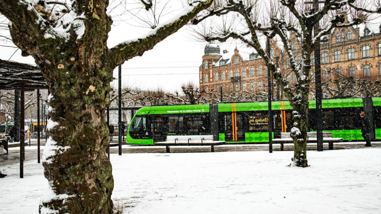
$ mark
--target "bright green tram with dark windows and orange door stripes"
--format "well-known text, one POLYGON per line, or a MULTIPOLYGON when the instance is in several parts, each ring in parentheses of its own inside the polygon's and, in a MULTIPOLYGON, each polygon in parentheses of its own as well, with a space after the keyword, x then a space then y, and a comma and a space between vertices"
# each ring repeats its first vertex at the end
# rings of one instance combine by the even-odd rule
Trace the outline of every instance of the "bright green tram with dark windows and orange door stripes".
MULTIPOLYGON (((293 125, 289 101, 271 103, 273 138, 290 132, 293 125)), ((360 113, 370 119, 372 141, 381 140, 381 97, 324 99, 323 131, 344 141, 363 141, 360 113)), ((128 129, 128 144, 154 144, 167 135, 213 135, 215 141, 261 144, 269 142, 267 102, 142 107, 128 129)), ((316 101, 309 101, 309 131, 316 131, 316 101)))

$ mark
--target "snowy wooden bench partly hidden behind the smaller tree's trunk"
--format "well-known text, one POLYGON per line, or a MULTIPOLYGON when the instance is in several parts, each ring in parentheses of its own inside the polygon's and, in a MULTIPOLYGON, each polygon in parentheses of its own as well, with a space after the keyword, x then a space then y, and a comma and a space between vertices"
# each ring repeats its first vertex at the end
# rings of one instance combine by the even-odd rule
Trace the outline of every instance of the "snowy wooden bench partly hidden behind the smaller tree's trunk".
MULTIPOLYGON (((317 143, 316 135, 316 132, 307 132, 307 143, 317 143)), ((281 151, 284 150, 283 144, 292 143, 293 141, 289 132, 280 133, 280 138, 272 140, 274 143, 280 143, 281 151)), ((323 142, 328 143, 329 150, 333 150, 333 143, 343 142, 343 138, 332 137, 331 132, 323 132, 323 142)))

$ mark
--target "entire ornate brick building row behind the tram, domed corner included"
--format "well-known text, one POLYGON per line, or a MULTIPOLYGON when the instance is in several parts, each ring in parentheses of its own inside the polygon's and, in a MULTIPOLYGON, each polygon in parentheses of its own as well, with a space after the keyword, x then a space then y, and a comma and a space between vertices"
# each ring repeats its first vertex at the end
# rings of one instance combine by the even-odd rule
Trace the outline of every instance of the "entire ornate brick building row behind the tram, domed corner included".
MULTIPOLYGON (((348 23, 347 17, 344 23, 348 23)), ((354 78, 381 77, 381 26, 378 32, 368 26, 362 27, 363 34, 360 34, 360 26, 356 26, 336 28, 323 38, 320 46, 323 81, 337 77, 333 72, 328 72, 331 70, 354 78)), ((295 34, 290 34, 290 43, 296 61, 300 62, 300 44, 295 34)), ((291 84, 295 83, 296 77, 288 66, 287 54, 282 53, 275 40, 271 40, 271 50, 272 57, 279 59, 283 75, 291 84)), ((222 86, 228 93, 234 90, 255 91, 262 89, 262 84, 267 84, 267 67, 256 53, 251 53, 249 59, 244 60, 237 48, 234 53, 224 50, 221 54, 218 45, 208 44, 202 61, 199 68, 200 88, 219 91, 219 86, 222 86)), ((314 69, 312 67, 311 73, 314 69)))

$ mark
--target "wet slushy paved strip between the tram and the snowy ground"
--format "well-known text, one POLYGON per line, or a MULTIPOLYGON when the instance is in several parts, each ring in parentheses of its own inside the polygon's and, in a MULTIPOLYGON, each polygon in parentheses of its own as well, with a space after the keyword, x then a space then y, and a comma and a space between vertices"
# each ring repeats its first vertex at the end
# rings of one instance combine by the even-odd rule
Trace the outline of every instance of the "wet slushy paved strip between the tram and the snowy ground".
MULTIPOLYGON (((41 142, 45 145, 45 141, 41 142)), ((369 147, 364 146, 365 142, 357 143, 337 143, 334 144, 333 148, 336 149, 367 149, 369 147)), ((32 142, 32 146, 37 145, 32 142)), ((140 146, 140 145, 122 145, 122 154, 126 153, 165 153, 165 146, 140 146)), ((372 148, 381 148, 381 142, 372 142, 372 148)), ((37 147, 31 147, 29 149, 26 146, 25 149, 25 161, 35 160, 37 162, 37 147), (35 149, 34 149, 35 148, 35 149)), ((171 146, 171 153, 190 153, 190 152, 210 152, 210 146, 171 146)), ((273 144, 273 151, 280 151, 279 144, 273 144)), ((292 151, 294 149, 293 144, 285 144, 285 151, 292 151)), ((316 144, 307 144, 307 150, 316 150, 316 144)), ((241 144, 241 145, 219 145, 215 146, 215 152, 243 152, 243 151, 268 151, 268 144, 241 144)), ((323 150, 328 150, 328 144, 323 145, 323 150)), ((41 149, 40 158, 42 158, 43 149, 41 149)), ((117 154, 118 147, 110 147, 110 153, 117 154)), ((0 155, 0 170, 1 166, 8 164, 20 163, 20 150, 10 149, 9 153, 6 155, 0 155)))

